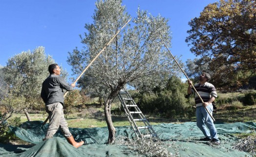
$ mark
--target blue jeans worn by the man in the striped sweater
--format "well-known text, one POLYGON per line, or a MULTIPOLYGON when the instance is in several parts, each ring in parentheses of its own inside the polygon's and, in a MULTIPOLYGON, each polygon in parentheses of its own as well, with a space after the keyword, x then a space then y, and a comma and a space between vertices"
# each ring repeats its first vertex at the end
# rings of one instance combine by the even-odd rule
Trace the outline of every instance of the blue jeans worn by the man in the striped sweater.
MULTIPOLYGON (((206 106, 206 108, 209 110, 210 114, 213 115, 213 104, 209 104, 208 106, 206 106)), ((219 141, 213 119, 203 106, 196 107, 195 116, 196 125, 203 132, 204 136, 212 139, 215 138, 217 141, 219 141), (209 129, 210 133, 206 126, 209 129)))

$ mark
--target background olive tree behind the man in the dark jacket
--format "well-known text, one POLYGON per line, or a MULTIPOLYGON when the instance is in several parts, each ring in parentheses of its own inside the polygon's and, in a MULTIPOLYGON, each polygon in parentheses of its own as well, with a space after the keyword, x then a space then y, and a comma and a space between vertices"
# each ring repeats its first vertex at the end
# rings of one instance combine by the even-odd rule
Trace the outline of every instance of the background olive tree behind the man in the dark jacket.
POLYGON ((6 105, 14 109, 14 111, 23 110, 28 120, 28 108, 43 104, 40 97, 42 83, 49 76, 48 65, 54 63, 51 56, 46 56, 44 47, 37 47, 32 52, 21 52, 8 59, 6 66, 3 67, 3 79, 6 83, 9 98, 18 97, 22 101, 17 101, 15 104, 5 101, 6 105))

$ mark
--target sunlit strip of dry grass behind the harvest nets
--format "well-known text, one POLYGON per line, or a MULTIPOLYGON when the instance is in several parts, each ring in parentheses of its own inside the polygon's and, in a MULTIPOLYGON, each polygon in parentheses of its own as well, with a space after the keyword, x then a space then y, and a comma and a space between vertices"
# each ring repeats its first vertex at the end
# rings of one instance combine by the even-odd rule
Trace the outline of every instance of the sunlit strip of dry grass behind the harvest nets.
MULTIPOLYGON (((104 113, 102 115, 85 115, 85 116, 77 116, 79 114, 69 114, 66 116, 66 120, 69 127, 74 128, 92 128, 92 127, 107 127, 107 123, 105 121, 104 113)), ((29 114, 32 120, 42 120, 44 121, 47 118, 46 114, 38 113, 38 114, 29 114)), ((14 114, 12 118, 20 117, 21 123, 27 121, 25 114, 14 114)), ((151 125, 156 125, 160 123, 181 123, 186 121, 196 121, 195 117, 192 118, 183 118, 183 117, 175 117, 175 118, 161 118, 161 117, 152 117, 145 115, 147 120, 151 125)), ((248 122, 253 121, 256 122, 256 105, 254 106, 245 106, 241 109, 235 110, 226 110, 225 106, 218 107, 217 112, 213 113, 213 118, 216 122, 248 122)), ((112 116, 112 122, 114 126, 129 126, 130 123, 126 116, 112 116)), ((139 124, 138 124, 139 125, 139 124)))

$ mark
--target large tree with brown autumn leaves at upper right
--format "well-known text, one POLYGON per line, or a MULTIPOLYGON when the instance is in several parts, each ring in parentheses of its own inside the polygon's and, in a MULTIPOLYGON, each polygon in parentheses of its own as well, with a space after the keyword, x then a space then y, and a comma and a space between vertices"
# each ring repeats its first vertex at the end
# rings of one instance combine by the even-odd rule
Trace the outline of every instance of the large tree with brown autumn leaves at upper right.
POLYGON ((207 58, 216 86, 239 87, 256 74, 256 1, 220 0, 189 22, 191 52, 207 58))

